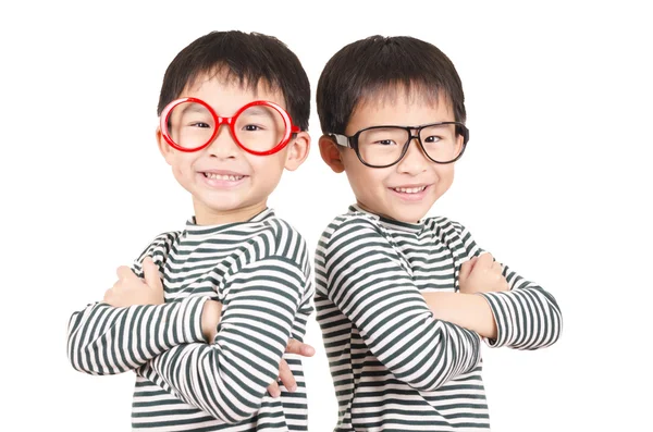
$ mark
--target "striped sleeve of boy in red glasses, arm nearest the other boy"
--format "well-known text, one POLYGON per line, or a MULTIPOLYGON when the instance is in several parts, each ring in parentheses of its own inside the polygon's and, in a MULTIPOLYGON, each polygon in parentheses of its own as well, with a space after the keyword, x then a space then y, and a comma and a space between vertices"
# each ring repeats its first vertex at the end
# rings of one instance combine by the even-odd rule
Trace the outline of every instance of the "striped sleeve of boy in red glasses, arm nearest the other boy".
POLYGON ((226 423, 251 417, 276 380, 308 284, 300 266, 286 257, 239 268, 225 280, 213 343, 175 346, 138 373, 226 423))

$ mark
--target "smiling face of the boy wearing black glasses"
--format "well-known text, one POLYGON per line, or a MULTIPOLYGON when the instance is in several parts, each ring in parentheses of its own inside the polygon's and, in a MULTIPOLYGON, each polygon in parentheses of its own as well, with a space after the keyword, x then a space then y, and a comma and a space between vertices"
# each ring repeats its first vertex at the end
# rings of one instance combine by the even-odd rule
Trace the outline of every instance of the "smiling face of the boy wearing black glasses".
MULTIPOLYGON (((454 120, 449 103, 442 99, 432 103, 419 96, 399 92, 392 100, 381 98, 378 102, 357 106, 345 134, 352 136, 379 125, 417 126, 454 120)), ((456 140, 457 146, 463 146, 463 136, 457 136, 456 140)), ((387 168, 364 165, 353 149, 336 148, 328 137, 320 139, 320 152, 333 171, 347 173, 361 208, 402 222, 421 220, 454 180, 454 163, 432 162, 415 139, 404 158, 387 168)))

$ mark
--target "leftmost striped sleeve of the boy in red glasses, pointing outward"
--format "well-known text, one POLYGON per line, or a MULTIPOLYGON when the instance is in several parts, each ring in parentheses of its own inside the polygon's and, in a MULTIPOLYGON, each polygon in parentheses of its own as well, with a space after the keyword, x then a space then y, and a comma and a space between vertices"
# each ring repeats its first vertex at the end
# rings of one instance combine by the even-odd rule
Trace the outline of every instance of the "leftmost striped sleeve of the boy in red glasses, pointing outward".
MULTIPOLYGON (((140 263, 146 256, 162 268, 173 239, 171 234, 157 237, 136 259, 133 271, 143 277, 140 263)), ((202 342, 201 310, 207 299, 123 308, 90 304, 69 321, 69 359, 81 372, 115 374, 134 370, 173 346, 202 342)))

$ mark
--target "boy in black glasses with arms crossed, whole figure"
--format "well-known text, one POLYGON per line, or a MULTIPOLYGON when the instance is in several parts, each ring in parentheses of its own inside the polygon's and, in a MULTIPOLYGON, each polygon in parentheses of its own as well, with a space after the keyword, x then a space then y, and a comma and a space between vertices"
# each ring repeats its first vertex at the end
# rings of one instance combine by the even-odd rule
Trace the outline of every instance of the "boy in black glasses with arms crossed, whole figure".
POLYGON ((464 101, 449 59, 410 37, 353 42, 320 76, 320 152, 356 196, 316 251, 340 432, 488 430, 481 337, 538 349, 560 335, 551 294, 424 218, 467 146, 464 101))

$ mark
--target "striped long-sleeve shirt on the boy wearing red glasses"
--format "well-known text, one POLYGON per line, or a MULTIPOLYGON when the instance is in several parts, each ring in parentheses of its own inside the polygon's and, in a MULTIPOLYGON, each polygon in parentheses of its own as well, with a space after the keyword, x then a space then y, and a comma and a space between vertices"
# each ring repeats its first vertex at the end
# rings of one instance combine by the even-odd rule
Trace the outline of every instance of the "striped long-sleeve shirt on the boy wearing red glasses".
POLYGON ((250 221, 159 235, 152 257, 163 305, 91 304, 73 313, 69 357, 91 374, 136 372, 132 424, 156 431, 306 431, 301 361, 284 355, 304 340, 315 285, 304 238, 267 209, 250 221), (201 334, 207 299, 222 303, 212 344, 201 334), (281 358, 297 390, 272 398, 281 358))

